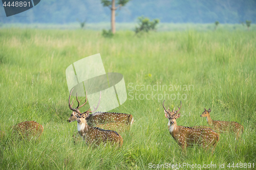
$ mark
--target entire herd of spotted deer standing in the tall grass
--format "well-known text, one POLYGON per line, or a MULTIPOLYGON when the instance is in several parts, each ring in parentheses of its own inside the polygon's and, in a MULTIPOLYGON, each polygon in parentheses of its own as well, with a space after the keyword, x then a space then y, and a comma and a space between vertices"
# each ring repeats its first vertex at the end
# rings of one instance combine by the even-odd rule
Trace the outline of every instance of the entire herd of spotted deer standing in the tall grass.
MULTIPOLYGON (((74 89, 74 88, 73 88, 74 89)), ((95 112, 100 105, 101 92, 99 96, 99 101, 97 107, 94 107, 94 110, 91 111, 91 108, 85 112, 80 112, 79 109, 86 105, 88 102, 87 94, 85 102, 80 105, 80 101, 77 99, 78 103, 76 108, 72 108, 72 104, 70 103, 71 90, 69 94, 69 109, 72 110, 71 116, 68 119, 68 122, 77 122, 77 131, 78 134, 82 137, 84 142, 88 145, 99 146, 100 144, 106 145, 116 145, 116 147, 121 147, 123 144, 123 138, 120 135, 123 131, 130 128, 130 126, 134 122, 134 118, 131 114, 125 113, 114 113, 114 112, 95 112), (92 113, 92 114, 90 114, 92 113)), ((164 107, 163 101, 163 109, 164 115, 168 119, 168 130, 170 135, 176 140, 178 145, 182 148, 184 152, 186 152, 186 148, 199 145, 205 149, 211 149, 212 153, 214 152, 218 141, 220 140, 220 133, 234 133, 236 135, 236 139, 240 138, 244 128, 237 122, 225 122, 220 120, 212 120, 210 117, 210 109, 206 110, 204 108, 201 117, 206 117, 208 126, 194 126, 194 127, 185 127, 178 126, 177 119, 181 116, 180 109, 182 103, 180 103, 180 107, 178 110, 170 110, 169 107, 166 109, 164 107)), ((22 137, 34 137, 39 138, 44 128, 34 122, 27 121, 19 123, 12 127, 13 131, 18 132, 18 134, 22 137)), ((0 131, 0 137, 4 136, 4 132, 0 131)), ((73 135, 74 137, 74 135, 73 135)))

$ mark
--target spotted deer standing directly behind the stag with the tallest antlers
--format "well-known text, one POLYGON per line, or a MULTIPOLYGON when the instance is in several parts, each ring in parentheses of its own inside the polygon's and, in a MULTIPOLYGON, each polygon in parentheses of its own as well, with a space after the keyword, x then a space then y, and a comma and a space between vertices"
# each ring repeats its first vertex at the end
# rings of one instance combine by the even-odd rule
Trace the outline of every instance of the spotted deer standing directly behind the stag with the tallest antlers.
MULTIPOLYGON (((72 112, 68 122, 71 123, 74 120, 77 120, 77 117, 75 112, 72 112)), ((89 116, 86 118, 86 121, 89 126, 123 132, 130 128, 134 122, 134 119, 133 115, 131 114, 115 112, 94 112, 89 114, 89 116)))

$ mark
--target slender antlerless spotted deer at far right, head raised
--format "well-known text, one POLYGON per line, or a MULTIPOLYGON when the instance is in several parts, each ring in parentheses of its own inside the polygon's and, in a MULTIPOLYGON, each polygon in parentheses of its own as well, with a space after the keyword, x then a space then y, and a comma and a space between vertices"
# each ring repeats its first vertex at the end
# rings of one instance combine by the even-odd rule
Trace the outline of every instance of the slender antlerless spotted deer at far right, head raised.
POLYGON ((244 127, 237 122, 227 122, 227 121, 220 121, 220 120, 212 120, 210 118, 210 109, 206 110, 204 108, 201 117, 206 117, 208 125, 219 133, 229 133, 232 132, 236 134, 236 138, 240 138, 244 127))

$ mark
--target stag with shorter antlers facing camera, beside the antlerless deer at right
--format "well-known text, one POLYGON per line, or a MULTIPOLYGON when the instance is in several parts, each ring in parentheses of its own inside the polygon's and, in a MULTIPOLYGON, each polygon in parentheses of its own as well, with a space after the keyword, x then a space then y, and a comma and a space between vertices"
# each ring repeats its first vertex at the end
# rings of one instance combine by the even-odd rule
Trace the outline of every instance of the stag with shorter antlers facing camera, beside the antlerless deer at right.
POLYGON ((209 128, 199 128, 194 129, 191 127, 177 126, 176 119, 180 117, 179 111, 181 108, 181 102, 179 109, 175 111, 170 111, 170 109, 166 110, 163 108, 165 117, 169 119, 168 129, 170 135, 178 142, 183 151, 186 152, 186 148, 193 145, 200 145, 203 148, 212 148, 212 152, 214 152, 217 142, 219 141, 219 135, 209 128))

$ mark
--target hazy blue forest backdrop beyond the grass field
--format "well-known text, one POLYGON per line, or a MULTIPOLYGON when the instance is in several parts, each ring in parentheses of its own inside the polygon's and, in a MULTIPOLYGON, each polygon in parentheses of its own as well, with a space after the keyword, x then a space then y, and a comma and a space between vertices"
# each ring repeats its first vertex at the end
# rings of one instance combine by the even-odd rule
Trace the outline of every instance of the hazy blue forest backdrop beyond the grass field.
MULTIPOLYGON (((117 10, 117 22, 135 22, 138 16, 159 18, 161 22, 174 23, 239 23, 245 20, 256 22, 255 0, 133 0, 122 10, 117 10)), ((69 23, 77 19, 87 22, 110 21, 109 8, 103 7, 100 0, 44 0, 23 13, 6 17, 0 6, 0 22, 21 23, 69 23)))

